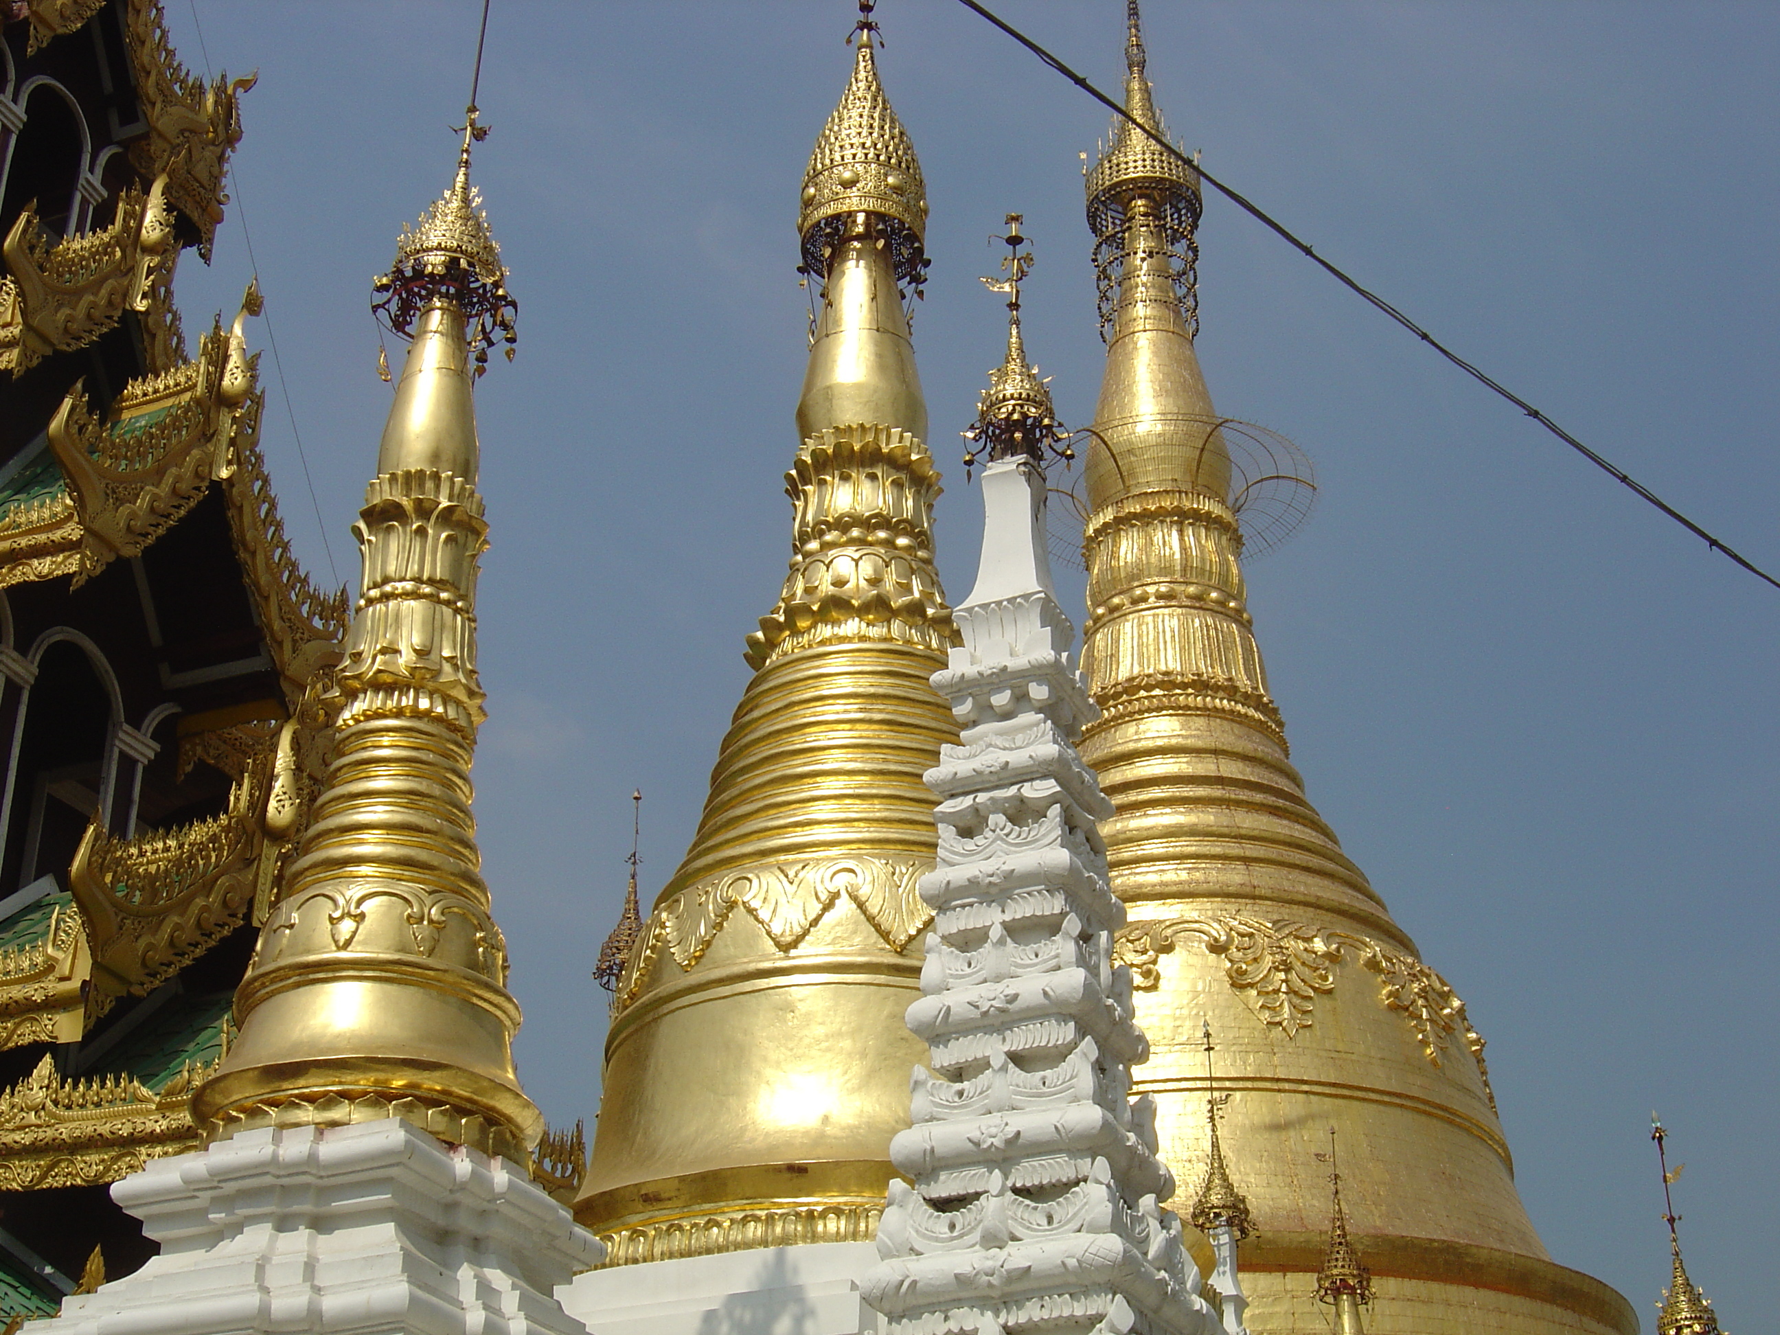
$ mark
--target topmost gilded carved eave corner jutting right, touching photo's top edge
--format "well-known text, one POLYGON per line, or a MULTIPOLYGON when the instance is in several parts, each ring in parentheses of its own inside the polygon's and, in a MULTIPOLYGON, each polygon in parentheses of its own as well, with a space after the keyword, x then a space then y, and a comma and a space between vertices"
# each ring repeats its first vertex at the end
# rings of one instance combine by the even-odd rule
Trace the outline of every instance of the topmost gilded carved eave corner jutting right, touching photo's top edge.
POLYGON ((130 146, 130 162, 142 180, 167 178, 167 203, 198 228, 198 253, 210 263, 210 246, 222 205, 228 157, 240 142, 239 94, 255 77, 214 84, 192 75, 173 53, 160 0, 128 0, 125 41, 135 71, 135 91, 148 134, 130 146))

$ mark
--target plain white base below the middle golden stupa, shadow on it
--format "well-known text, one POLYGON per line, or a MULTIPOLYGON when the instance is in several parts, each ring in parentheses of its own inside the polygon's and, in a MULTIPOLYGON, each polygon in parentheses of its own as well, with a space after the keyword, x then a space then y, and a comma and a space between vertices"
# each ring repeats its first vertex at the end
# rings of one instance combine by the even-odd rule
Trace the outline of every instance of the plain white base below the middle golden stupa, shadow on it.
POLYGON ((557 1289, 595 1335, 862 1335, 878 1314, 860 1276, 870 1242, 808 1242, 651 1260, 578 1274, 557 1289))

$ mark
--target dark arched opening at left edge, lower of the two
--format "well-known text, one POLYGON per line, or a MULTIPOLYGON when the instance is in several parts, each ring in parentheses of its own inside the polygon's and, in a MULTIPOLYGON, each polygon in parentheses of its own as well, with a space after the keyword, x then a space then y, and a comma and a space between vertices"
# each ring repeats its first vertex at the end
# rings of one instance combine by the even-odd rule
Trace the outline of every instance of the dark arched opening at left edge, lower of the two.
POLYGON ((110 666, 75 632, 50 632, 37 678, 20 701, 5 806, 0 885, 68 874, 94 812, 110 806, 117 687, 110 666))

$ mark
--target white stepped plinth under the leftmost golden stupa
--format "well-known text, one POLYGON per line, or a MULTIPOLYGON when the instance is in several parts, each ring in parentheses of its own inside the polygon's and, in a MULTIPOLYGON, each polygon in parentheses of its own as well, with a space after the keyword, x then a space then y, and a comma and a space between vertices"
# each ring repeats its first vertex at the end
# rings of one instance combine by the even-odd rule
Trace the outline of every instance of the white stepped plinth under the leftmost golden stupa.
POLYGON ((160 1255, 34 1335, 587 1335, 602 1246, 523 1169, 406 1121, 242 1132, 112 1187, 160 1255))

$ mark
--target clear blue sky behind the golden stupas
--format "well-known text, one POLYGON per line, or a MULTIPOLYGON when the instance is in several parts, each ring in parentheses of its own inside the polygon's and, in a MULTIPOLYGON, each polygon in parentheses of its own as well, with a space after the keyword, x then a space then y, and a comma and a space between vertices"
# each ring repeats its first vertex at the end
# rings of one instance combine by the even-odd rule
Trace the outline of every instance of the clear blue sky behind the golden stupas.
MULTIPOLYGON (((320 580, 356 578, 376 459, 368 279, 449 180, 473 2, 167 0, 196 68, 260 71, 237 206, 187 326, 253 235, 290 417, 265 447, 320 580), (203 46, 199 48, 198 27, 203 46)), ((493 550, 477 817, 554 1123, 598 1098, 587 975, 623 895, 685 849, 783 573, 806 303, 796 194, 851 5, 497 0, 477 182, 520 297, 479 390, 493 550)), ((1116 87, 1114 0, 999 11, 1116 87)), ((1150 75, 1205 166, 1746 555, 1780 566, 1780 11, 1732 4, 1157 4, 1150 75)), ((952 433, 999 352, 975 283, 1024 212, 1027 345, 1066 422, 1100 374, 1080 162, 1105 116, 951 0, 885 0, 881 69, 929 182, 915 344, 952 433)), ((1780 1235, 1771 954, 1780 591, 1436 361, 1223 201, 1200 354, 1223 413, 1298 441, 1319 502, 1251 607, 1312 801, 1490 1040, 1554 1257, 1650 1326, 1659 1109, 1695 1278, 1732 1330, 1780 1235)), ((251 336, 265 344, 267 322, 251 336)), ((1264 1225, 1266 1221, 1262 1221, 1264 1225)), ((1363 1226, 1363 1225, 1362 1225, 1363 1226)))

